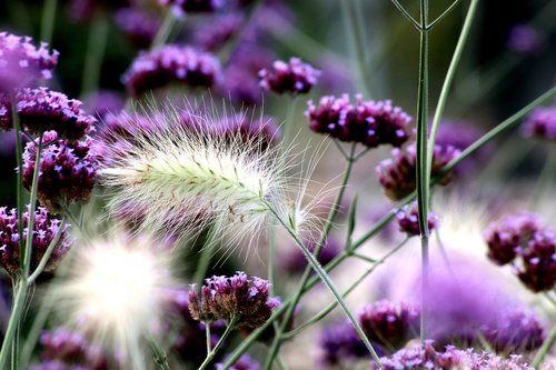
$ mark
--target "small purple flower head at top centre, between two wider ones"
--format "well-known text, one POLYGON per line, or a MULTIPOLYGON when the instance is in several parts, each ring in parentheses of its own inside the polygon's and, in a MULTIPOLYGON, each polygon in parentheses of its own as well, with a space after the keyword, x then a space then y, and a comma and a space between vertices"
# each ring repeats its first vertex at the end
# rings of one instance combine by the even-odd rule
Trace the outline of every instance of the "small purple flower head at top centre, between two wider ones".
POLYGON ((262 69, 259 72, 260 86, 279 94, 309 92, 319 76, 319 70, 299 58, 290 58, 289 62, 276 60, 271 70, 262 69))

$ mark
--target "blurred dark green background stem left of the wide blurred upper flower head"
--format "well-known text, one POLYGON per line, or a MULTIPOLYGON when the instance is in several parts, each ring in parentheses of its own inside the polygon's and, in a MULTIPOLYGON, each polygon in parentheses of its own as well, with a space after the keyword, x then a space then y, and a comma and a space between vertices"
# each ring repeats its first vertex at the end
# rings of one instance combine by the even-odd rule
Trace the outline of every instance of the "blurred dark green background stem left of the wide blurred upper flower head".
POLYGON ((108 41, 109 22, 103 14, 97 13, 92 20, 87 40, 87 53, 81 80, 81 96, 98 89, 102 59, 108 41))

